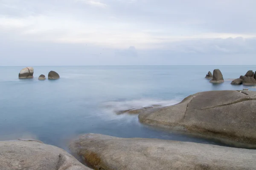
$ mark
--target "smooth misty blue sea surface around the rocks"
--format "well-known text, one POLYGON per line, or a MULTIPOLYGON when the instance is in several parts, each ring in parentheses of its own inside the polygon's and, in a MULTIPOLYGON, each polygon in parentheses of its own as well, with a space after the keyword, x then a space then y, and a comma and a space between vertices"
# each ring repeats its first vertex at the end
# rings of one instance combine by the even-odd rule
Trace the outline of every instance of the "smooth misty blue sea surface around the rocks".
POLYGON ((33 79, 18 79, 25 66, 0 67, 0 140, 36 138, 67 150, 79 134, 100 133, 117 137, 161 138, 218 144, 188 135, 140 124, 137 115, 116 115, 116 110, 151 104, 177 104, 207 90, 230 90, 256 66, 34 66, 33 79), (220 69, 223 84, 205 79, 220 69), (60 79, 38 81, 56 71, 60 79))

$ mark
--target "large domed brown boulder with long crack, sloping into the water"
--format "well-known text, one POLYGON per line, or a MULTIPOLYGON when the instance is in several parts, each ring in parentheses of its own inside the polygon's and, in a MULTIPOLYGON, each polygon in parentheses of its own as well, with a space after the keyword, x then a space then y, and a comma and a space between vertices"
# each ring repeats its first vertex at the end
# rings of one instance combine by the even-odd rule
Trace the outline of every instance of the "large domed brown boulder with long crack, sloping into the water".
POLYGON ((199 92, 173 106, 147 109, 139 120, 238 147, 256 148, 255 106, 253 91, 199 92))

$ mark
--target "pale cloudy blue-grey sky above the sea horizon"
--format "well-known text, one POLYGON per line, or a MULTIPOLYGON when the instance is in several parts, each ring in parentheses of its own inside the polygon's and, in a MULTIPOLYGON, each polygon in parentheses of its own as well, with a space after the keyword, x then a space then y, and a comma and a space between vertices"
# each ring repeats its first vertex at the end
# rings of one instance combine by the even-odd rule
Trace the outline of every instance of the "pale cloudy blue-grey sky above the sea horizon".
POLYGON ((0 66, 256 65, 256 0, 0 0, 0 66))

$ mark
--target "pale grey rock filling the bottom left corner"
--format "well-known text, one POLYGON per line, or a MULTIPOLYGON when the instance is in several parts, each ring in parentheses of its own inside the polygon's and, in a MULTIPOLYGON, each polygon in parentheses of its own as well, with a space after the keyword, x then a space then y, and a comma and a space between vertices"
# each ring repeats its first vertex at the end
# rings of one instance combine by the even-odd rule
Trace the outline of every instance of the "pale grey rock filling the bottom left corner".
POLYGON ((0 141, 0 170, 90 170, 61 148, 35 140, 0 141))

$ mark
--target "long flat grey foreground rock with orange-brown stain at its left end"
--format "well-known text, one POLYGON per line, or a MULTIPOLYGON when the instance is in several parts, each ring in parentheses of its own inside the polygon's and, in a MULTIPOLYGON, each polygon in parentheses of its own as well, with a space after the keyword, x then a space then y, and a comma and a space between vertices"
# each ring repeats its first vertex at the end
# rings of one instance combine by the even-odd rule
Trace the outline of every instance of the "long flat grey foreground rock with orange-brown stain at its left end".
POLYGON ((86 134, 70 144, 95 170, 254 170, 256 150, 86 134))

